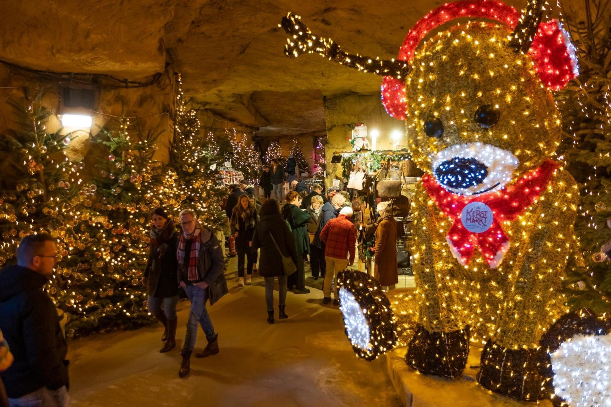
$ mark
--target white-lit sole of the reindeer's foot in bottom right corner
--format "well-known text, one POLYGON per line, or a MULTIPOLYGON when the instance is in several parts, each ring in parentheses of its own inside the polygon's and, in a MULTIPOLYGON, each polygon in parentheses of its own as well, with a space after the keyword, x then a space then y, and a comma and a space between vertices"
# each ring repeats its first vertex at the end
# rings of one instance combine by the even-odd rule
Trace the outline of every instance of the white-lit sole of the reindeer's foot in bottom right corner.
POLYGON ((554 392, 569 406, 611 407, 611 337, 576 335, 552 353, 554 392))

